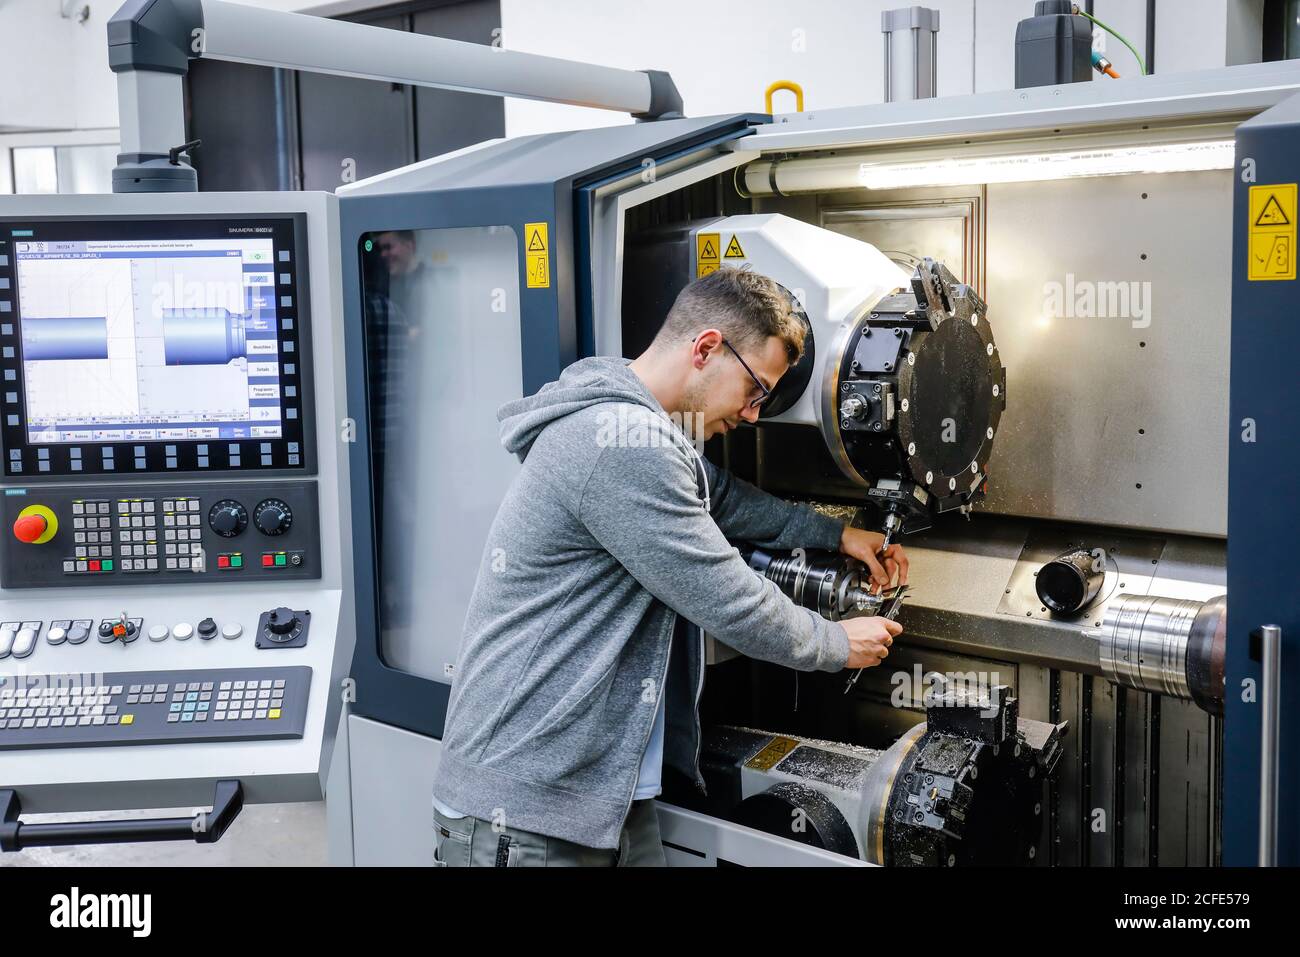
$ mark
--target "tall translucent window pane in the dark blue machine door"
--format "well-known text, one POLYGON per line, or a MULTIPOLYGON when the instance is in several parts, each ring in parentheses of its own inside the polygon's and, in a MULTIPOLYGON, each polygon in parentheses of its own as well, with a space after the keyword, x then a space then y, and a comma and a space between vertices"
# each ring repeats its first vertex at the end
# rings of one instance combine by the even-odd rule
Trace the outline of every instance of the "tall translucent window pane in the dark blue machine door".
POLYGON ((519 464, 497 425, 523 395, 517 247, 508 226, 361 237, 381 648, 420 677, 451 680, 519 464))

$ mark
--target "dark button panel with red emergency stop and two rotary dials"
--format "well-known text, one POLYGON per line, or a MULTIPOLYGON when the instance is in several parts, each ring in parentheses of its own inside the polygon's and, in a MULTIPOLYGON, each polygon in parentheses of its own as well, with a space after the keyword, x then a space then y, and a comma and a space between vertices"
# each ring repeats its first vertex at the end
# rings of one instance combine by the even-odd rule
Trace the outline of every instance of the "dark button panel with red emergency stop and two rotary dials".
POLYGON ((4 588, 320 577, 313 481, 10 488, 3 498, 4 588))

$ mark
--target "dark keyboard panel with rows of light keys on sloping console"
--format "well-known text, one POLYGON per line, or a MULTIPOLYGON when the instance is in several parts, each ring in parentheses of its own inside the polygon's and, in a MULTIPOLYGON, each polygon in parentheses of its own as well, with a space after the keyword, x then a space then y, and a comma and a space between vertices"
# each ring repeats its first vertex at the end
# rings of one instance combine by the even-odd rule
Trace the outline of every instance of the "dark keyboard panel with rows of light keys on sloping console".
POLYGON ((0 685, 0 750, 303 736, 312 670, 120 671, 0 685))

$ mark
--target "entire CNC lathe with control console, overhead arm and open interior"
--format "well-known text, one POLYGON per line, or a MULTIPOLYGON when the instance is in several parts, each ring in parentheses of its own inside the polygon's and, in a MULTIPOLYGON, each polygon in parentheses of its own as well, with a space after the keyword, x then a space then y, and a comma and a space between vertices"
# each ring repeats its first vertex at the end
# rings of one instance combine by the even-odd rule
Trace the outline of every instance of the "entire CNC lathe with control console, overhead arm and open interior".
POLYGON ((666 776, 670 863, 1295 859, 1294 62, 685 118, 655 72, 220 0, 131 0, 109 39, 118 195, 0 199, 0 848, 211 841, 324 794, 334 862, 430 863, 517 468, 495 410, 750 268, 805 359, 706 454, 905 542, 911 581, 736 547, 905 633, 826 675, 697 629, 707 791, 666 776), (196 27, 204 56, 642 122, 195 194, 196 27))

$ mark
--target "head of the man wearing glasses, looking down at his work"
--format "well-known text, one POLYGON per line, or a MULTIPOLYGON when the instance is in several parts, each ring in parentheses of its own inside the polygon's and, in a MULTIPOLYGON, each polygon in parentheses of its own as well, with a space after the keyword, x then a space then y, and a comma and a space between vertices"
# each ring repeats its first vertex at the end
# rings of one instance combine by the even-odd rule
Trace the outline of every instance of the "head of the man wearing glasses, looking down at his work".
POLYGON ((779 285, 723 268, 681 290, 646 358, 676 394, 673 411, 697 413, 711 438, 758 419, 753 403, 800 360, 803 334, 779 285))

